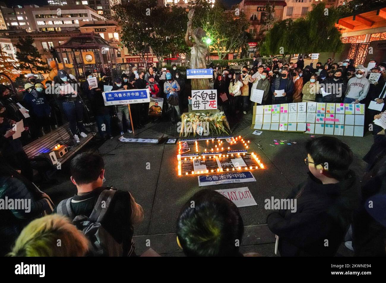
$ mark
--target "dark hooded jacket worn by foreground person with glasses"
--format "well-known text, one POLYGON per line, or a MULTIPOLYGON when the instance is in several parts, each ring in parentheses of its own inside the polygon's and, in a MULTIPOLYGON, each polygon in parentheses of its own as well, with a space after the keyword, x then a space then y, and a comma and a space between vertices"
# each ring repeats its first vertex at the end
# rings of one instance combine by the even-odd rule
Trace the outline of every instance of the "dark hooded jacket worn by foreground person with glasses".
POLYGON ((351 170, 337 184, 322 184, 308 172, 308 179, 287 197, 300 194, 296 212, 280 210, 267 218, 269 229, 279 236, 280 255, 334 256, 357 208, 359 190, 355 183, 351 170))

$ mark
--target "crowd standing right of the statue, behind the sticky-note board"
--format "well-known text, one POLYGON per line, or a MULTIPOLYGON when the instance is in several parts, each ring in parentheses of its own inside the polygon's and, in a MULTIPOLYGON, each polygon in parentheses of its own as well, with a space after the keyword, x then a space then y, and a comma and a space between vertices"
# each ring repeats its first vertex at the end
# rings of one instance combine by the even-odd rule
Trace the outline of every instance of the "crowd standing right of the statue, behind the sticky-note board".
MULTIPOLYGON (((369 63, 376 65, 368 70, 363 65, 354 67, 349 59, 335 63, 329 58, 324 64, 314 65, 312 61, 305 66, 303 57, 299 56, 295 63, 283 63, 275 57, 272 64, 262 65, 261 58, 254 57, 252 67, 243 66, 241 72, 227 68, 221 74, 216 67, 214 89, 217 89, 218 105, 230 120, 235 114, 247 114, 251 106, 261 104, 343 102, 366 104, 367 108, 371 101, 384 103, 386 96, 386 62, 378 64, 370 60, 369 63), (381 73, 381 76, 377 82, 370 83, 370 73, 381 73), (264 91, 261 104, 250 100, 255 89, 264 91)), ((380 111, 370 109, 366 113, 366 121, 371 122, 380 111)))

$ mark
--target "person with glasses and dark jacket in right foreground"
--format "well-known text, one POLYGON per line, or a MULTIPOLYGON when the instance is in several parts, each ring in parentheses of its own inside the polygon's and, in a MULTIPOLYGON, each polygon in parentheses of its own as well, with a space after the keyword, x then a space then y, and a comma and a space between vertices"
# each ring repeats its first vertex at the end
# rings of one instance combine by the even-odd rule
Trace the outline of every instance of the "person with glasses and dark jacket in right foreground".
POLYGON ((347 144, 328 136, 310 139, 306 152, 308 178, 286 198, 296 199, 296 211, 271 213, 267 224, 279 236, 281 256, 334 256, 359 201, 356 176, 350 170, 353 153, 347 144))

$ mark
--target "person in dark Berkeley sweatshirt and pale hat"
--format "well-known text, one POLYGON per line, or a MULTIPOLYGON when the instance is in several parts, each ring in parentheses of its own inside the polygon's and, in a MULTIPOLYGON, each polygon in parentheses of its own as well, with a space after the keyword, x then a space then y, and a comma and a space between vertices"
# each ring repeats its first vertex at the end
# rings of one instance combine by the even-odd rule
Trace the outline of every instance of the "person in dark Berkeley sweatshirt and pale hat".
MULTIPOLYGON (((42 86, 39 88, 42 88, 42 86)), ((24 89, 23 101, 32 119, 31 137, 37 139, 43 136, 42 128, 45 134, 51 132, 51 107, 42 91, 37 91, 33 84, 25 84, 24 89)))

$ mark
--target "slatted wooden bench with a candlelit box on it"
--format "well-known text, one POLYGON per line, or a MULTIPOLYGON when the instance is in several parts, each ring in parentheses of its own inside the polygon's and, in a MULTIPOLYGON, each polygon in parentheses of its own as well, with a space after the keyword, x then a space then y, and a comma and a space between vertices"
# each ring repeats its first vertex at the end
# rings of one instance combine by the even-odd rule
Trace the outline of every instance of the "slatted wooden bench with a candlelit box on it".
POLYGON ((33 159, 37 156, 44 156, 49 159, 48 153, 51 152, 57 144, 65 144, 67 145, 68 152, 64 154, 62 158, 58 159, 58 161, 63 164, 94 137, 90 132, 87 137, 80 137, 80 142, 76 143, 70 133, 69 123, 66 123, 40 137, 36 141, 27 144, 23 149, 29 159, 33 159))

